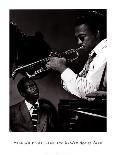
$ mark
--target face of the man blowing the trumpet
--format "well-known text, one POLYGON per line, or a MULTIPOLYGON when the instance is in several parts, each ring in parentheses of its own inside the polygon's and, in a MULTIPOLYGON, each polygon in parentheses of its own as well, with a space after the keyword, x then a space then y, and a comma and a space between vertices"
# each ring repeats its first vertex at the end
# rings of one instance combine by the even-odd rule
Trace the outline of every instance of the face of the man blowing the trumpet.
POLYGON ((90 52, 97 44, 97 35, 92 33, 89 27, 81 24, 75 27, 77 45, 83 52, 90 52))

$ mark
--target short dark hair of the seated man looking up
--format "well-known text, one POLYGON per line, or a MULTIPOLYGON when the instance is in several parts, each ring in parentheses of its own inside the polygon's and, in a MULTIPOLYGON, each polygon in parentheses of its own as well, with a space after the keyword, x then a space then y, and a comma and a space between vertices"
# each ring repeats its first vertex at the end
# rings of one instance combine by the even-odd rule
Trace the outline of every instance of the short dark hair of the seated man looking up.
MULTIPOLYGON (((17 84, 17 88, 18 88, 18 91, 19 93, 21 94, 22 92, 24 93, 24 86, 25 86, 25 83, 30 81, 32 79, 28 78, 28 77, 23 77, 17 84)), ((33 81, 33 80, 32 80, 33 81)))

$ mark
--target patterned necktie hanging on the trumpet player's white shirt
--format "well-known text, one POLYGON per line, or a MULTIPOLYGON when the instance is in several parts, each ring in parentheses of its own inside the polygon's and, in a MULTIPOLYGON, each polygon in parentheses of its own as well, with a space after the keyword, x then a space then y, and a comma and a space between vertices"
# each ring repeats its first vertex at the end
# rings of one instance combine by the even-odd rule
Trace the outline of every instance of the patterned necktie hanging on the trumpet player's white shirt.
POLYGON ((90 63, 92 62, 93 58, 96 56, 96 53, 92 53, 91 55, 89 55, 88 60, 83 68, 83 70, 79 73, 80 77, 86 77, 88 71, 89 71, 89 67, 90 67, 90 63))

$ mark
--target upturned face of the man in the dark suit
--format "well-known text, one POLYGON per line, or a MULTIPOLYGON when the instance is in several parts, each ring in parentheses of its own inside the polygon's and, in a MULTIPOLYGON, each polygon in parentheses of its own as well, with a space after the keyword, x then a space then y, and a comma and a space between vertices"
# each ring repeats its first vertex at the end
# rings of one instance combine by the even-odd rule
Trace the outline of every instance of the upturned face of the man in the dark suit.
POLYGON ((39 98, 39 89, 34 81, 29 80, 25 83, 24 97, 31 100, 39 98))

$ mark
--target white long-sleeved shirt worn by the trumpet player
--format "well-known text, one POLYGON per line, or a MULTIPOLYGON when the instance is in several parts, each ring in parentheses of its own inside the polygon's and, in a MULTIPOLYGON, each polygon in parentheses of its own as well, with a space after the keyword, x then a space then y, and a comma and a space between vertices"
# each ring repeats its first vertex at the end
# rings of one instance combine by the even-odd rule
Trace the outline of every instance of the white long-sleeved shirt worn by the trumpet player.
MULTIPOLYGON (((107 40, 104 39, 91 51, 90 54, 95 52, 96 56, 90 63, 86 77, 80 77, 70 68, 67 68, 61 74, 63 88, 71 94, 83 99, 88 99, 86 94, 97 91, 106 65, 106 47, 107 40)), ((81 74, 81 72, 79 74, 81 74)))

